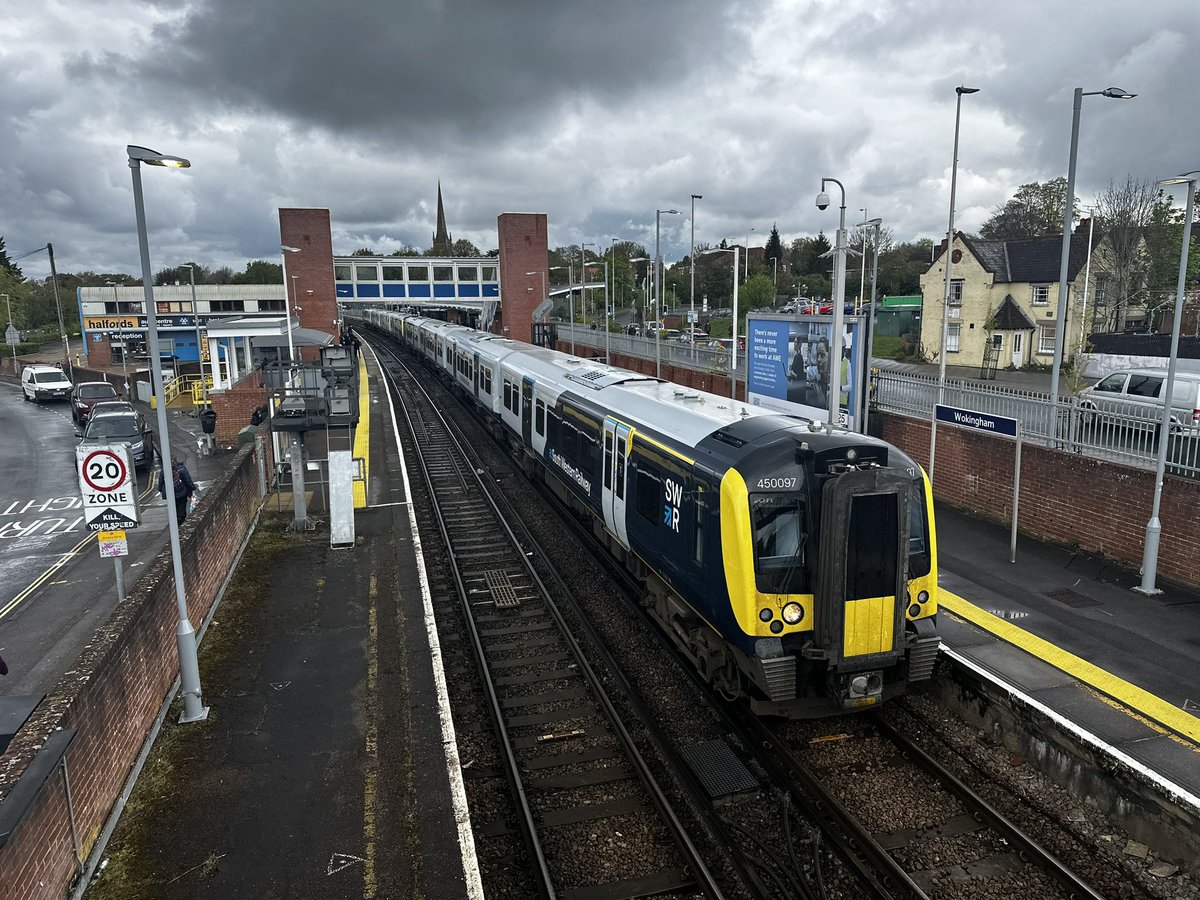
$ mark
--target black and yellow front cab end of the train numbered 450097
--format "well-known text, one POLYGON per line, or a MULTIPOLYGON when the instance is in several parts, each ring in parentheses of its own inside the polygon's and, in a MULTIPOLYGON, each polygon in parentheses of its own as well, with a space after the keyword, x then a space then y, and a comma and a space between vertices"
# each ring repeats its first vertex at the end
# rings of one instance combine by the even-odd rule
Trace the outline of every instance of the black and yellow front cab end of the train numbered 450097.
POLYGON ((936 660, 928 481, 883 456, 839 462, 845 451, 805 449, 792 466, 760 458, 756 474, 730 469, 721 481, 726 587, 745 635, 738 662, 758 713, 870 708, 928 678, 936 660))

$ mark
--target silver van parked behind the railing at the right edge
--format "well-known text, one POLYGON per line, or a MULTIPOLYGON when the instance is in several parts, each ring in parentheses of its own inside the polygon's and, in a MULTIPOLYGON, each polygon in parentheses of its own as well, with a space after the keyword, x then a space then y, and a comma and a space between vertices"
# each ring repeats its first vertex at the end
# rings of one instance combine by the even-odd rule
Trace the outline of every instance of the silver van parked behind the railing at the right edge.
MULTIPOLYGON (((1127 418, 1126 425, 1152 431, 1163 416, 1165 368, 1121 368, 1079 392, 1085 422, 1097 414, 1127 418), (1086 413, 1091 413, 1087 416, 1086 413)), ((1200 374, 1176 372, 1171 391, 1171 431, 1200 434, 1200 374)))

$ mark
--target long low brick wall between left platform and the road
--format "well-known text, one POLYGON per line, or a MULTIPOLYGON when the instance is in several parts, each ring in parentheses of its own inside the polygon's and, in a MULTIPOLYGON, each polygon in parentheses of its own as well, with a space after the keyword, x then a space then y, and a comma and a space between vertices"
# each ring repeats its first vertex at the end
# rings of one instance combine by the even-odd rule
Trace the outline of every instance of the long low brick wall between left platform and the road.
MULTIPOLYGON (((270 479, 269 452, 263 464, 270 479)), ((253 524, 260 503, 258 470, 254 446, 244 448, 184 523, 184 580, 193 626, 211 610, 253 524)), ((77 730, 65 761, 84 859, 175 679, 176 622, 170 550, 164 547, 0 757, 4 803, 43 740, 59 728, 77 730)), ((0 900, 58 900, 74 880, 65 787, 60 766, 0 850, 0 900)))

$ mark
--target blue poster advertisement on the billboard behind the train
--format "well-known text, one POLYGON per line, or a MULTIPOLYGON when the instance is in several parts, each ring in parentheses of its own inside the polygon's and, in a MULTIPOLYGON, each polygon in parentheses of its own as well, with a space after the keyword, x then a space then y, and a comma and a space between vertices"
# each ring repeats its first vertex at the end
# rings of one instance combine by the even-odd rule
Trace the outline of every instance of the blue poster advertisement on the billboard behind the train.
MULTIPOLYGON (((844 319, 839 424, 857 428, 863 319, 844 319)), ((746 317, 746 401, 790 415, 829 420, 833 317, 746 317)))

